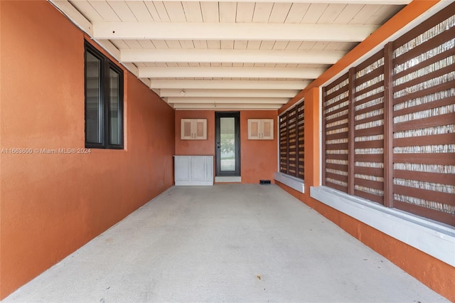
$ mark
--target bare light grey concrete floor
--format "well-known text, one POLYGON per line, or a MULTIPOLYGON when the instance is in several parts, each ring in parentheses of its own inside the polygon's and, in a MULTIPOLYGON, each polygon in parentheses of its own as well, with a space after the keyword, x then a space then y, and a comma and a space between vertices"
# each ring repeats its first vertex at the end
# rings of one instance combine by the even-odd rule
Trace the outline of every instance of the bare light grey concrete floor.
POLYGON ((274 185, 173 187, 3 302, 448 302, 274 185))

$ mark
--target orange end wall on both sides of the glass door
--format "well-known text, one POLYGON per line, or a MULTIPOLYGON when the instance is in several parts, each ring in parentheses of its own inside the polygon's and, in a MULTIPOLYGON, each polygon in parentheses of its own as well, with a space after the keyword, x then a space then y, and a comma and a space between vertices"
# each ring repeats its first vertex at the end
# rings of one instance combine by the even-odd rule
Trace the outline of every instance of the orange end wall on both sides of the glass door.
MULTIPOLYGON (((177 110, 176 111, 176 154, 215 156, 215 111, 177 110), (181 140, 180 120, 184 118, 207 119, 206 140, 181 140)), ((259 179, 269 179, 277 171, 277 111, 240 111, 240 161, 242 183, 259 184, 259 179), (247 119, 274 119, 273 140, 248 140, 247 119)))

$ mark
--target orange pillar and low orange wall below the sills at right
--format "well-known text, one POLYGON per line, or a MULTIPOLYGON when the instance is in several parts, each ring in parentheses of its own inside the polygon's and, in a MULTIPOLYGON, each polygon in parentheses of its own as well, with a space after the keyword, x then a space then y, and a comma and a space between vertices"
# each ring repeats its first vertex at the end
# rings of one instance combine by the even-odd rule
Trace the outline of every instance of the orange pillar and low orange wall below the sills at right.
POLYGON ((306 90, 304 97, 305 193, 299 193, 279 182, 277 184, 365 245, 387 257, 417 280, 455 302, 454 267, 310 197, 310 187, 320 186, 319 117, 321 107, 319 106, 319 89, 306 90))

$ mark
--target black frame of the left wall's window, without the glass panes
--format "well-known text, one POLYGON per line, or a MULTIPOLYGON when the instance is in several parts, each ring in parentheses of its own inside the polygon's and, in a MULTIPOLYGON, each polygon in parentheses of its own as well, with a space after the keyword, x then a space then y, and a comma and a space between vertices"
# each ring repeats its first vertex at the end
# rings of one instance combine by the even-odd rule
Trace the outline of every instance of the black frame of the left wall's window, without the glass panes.
POLYGON ((123 124, 123 109, 124 109, 124 75, 122 68, 119 68, 118 65, 112 62, 106 55, 102 54, 100 50, 97 50, 95 46, 85 41, 84 43, 84 96, 85 96, 85 147, 86 148, 95 148, 95 149, 124 149, 124 124, 123 124), (101 142, 87 142, 87 53, 93 55, 95 58, 100 60, 101 70, 100 70, 100 93, 101 93, 101 142), (109 71, 113 70, 119 75, 119 87, 118 87, 118 97, 119 97, 119 120, 118 127, 119 132, 119 144, 112 144, 110 142, 110 136, 112 125, 111 119, 109 119, 109 105, 110 105, 110 87, 109 87, 109 71))

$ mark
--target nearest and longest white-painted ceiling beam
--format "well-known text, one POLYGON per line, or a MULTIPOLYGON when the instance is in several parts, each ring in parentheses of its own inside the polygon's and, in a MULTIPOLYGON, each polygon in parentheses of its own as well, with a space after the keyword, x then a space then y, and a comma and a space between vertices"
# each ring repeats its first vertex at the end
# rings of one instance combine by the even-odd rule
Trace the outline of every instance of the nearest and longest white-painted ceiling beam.
POLYGON ((376 29, 358 24, 94 22, 93 38, 360 42, 376 29))

